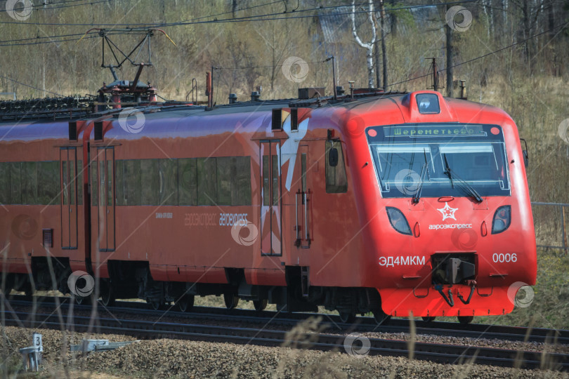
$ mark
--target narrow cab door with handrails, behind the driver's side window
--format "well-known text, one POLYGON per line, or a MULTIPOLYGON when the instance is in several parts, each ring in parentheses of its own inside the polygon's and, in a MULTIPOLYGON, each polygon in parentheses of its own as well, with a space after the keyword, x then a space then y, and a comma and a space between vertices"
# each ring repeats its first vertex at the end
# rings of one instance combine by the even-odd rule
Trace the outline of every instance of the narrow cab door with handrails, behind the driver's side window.
POLYGON ((295 220, 296 225, 296 246, 301 248, 310 248, 310 202, 312 201, 310 191, 308 189, 308 146, 299 146, 299 152, 296 156, 296 170, 299 173, 299 180, 296 180, 295 201, 296 206, 295 220))

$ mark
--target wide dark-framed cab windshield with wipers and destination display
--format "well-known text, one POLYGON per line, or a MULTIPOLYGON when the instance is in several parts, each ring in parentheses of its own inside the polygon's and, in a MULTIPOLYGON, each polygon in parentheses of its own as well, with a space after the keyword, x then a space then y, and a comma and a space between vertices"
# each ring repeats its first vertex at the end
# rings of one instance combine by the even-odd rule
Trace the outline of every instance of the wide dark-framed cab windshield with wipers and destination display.
POLYGON ((383 197, 511 194, 497 125, 372 126, 366 136, 383 197))

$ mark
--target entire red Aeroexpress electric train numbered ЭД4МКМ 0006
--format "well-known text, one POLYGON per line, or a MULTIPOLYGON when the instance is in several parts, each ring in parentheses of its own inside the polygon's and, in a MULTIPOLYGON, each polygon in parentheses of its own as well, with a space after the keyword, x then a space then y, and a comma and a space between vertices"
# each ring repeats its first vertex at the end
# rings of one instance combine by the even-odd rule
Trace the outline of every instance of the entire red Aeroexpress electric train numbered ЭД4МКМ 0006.
POLYGON ((4 293, 69 292, 82 270, 107 305, 469 322, 535 284, 527 155, 501 109, 372 90, 73 107, 0 105, 4 293))

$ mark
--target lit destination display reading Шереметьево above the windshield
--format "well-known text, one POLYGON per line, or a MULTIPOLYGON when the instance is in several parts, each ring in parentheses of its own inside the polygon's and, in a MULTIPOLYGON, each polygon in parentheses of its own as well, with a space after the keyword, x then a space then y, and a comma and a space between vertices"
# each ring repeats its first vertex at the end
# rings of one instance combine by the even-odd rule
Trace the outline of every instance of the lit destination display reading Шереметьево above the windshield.
POLYGON ((457 126, 388 126, 384 128, 386 137, 485 137, 481 125, 457 126))

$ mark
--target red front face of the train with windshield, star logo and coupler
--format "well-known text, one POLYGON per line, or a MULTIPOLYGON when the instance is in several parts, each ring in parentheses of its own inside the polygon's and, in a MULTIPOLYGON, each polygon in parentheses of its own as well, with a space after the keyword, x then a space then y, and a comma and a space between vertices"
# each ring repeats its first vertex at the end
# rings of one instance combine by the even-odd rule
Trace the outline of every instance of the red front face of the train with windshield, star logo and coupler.
POLYGON ((375 244, 384 312, 468 322, 511 312, 535 283, 527 184, 512 180, 523 159, 509 157, 509 133, 456 122, 365 129, 385 207, 375 244))

